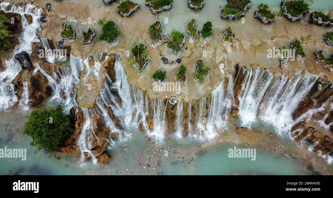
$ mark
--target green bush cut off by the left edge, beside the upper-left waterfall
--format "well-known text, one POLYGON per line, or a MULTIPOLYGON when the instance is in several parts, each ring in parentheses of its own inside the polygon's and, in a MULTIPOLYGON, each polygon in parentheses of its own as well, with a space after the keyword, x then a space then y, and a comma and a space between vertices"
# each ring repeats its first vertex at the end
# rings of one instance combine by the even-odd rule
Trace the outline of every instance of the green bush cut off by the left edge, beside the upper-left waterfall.
POLYGON ((10 23, 10 19, 0 14, 0 50, 7 50, 13 46, 13 35, 6 23, 10 23))

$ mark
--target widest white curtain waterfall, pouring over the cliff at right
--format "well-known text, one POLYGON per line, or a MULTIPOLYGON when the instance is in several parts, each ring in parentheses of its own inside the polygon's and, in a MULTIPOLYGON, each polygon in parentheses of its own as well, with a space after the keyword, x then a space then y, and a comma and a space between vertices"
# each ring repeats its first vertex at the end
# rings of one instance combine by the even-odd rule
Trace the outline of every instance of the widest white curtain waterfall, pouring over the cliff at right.
POLYGON ((262 67, 251 69, 245 79, 245 89, 238 97, 241 125, 251 127, 259 119, 274 127, 278 134, 288 135, 296 122, 292 119, 295 108, 317 78, 301 72, 288 79, 287 76, 273 76, 262 67))

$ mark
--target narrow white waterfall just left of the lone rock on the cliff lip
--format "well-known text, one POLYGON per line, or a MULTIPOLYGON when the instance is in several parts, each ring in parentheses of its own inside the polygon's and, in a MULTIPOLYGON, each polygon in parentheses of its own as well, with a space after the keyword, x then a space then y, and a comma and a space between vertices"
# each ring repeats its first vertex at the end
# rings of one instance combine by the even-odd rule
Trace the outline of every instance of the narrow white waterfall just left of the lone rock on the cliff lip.
POLYGON ((151 99, 151 108, 153 109, 154 129, 148 135, 155 138, 158 142, 164 141, 164 121, 166 105, 160 98, 151 99))

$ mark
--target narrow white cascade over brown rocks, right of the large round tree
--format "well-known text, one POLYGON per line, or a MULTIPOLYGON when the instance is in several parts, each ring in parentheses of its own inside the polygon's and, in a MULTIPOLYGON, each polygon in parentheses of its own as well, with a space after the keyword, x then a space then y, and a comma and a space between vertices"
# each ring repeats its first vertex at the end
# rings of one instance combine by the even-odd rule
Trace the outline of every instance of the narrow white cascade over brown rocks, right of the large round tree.
MULTIPOLYGON (((93 111, 89 111, 86 108, 81 108, 83 116, 85 118, 85 121, 83 123, 83 127, 82 127, 82 132, 78 138, 78 146, 80 148, 81 151, 81 157, 80 157, 80 161, 84 162, 85 161, 85 153, 88 154, 88 156, 91 156, 93 163, 97 164, 97 158, 95 157, 95 155, 91 152, 91 149, 93 148, 93 144, 92 144, 92 137, 96 136, 93 132, 93 123, 90 119, 90 116, 92 116, 94 114, 93 111)), ((83 166, 84 163, 81 163, 81 166, 83 166)))

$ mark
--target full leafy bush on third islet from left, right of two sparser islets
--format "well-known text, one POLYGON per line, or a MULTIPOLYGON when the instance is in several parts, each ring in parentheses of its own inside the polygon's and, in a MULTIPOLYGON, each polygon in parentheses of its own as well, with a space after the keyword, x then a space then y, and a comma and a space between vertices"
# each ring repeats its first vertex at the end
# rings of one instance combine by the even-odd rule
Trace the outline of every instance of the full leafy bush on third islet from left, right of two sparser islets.
POLYGON ((108 41, 109 43, 113 42, 120 36, 120 31, 115 27, 114 21, 107 21, 99 19, 97 24, 102 26, 102 33, 98 37, 100 41, 108 41))

